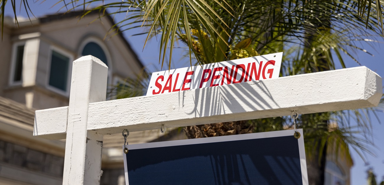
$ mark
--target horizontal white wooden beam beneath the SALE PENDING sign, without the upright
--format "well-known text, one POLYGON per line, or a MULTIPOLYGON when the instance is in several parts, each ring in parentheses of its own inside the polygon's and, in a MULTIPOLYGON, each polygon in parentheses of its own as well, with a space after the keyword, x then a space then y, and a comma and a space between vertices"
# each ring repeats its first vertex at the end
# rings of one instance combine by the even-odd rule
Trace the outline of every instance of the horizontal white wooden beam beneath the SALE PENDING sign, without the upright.
MULTIPOLYGON (((367 67, 354 67, 90 103, 87 129, 116 134, 124 128, 142 131, 162 124, 172 128, 287 116, 292 110, 299 114, 350 110, 377 106, 381 95, 381 77, 367 67)), ((50 118, 39 111, 36 136, 55 139, 51 131, 40 129, 50 118)))

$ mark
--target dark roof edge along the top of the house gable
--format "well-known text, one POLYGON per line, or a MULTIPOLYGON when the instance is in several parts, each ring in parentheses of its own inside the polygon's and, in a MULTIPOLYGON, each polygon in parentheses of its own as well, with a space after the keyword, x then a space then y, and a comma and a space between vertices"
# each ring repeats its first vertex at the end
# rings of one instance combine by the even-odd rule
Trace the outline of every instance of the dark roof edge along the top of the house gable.
MULTIPOLYGON (((104 17, 106 17, 109 20, 111 25, 116 25, 116 23, 114 22, 113 18, 109 15, 109 13, 107 11, 105 11, 104 14, 102 12, 104 12, 104 11, 100 11, 100 12, 99 11, 91 11, 87 15, 98 14, 98 15, 100 15, 100 17, 104 16, 104 17)), ((84 13, 84 11, 69 11, 69 12, 66 12, 66 13, 57 13, 57 14, 46 15, 46 16, 37 18, 37 20, 38 20, 39 23, 49 23, 49 22, 52 22, 52 21, 63 20, 63 19, 66 19, 66 18, 80 17, 80 16, 83 15, 83 13, 84 13)), ((117 29, 116 31, 118 33, 118 34, 116 34, 116 36, 118 36, 124 42, 124 44, 127 46, 127 48, 131 51, 132 56, 136 59, 136 61, 139 62, 140 67, 143 68, 144 65, 140 61, 140 59, 137 56, 136 52, 132 49, 131 45, 128 43, 127 39, 124 38, 124 36, 123 36, 122 32, 120 31, 120 29, 117 29)))

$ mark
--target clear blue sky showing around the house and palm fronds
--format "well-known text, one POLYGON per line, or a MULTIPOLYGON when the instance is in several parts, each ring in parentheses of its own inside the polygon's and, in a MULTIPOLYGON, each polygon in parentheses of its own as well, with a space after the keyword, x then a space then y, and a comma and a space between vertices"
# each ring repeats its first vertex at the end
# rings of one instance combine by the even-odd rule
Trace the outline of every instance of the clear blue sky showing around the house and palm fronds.
MULTIPOLYGON (((37 3, 30 2, 31 10, 33 11, 36 17, 40 17, 47 14, 56 13, 61 5, 56 5, 51 8, 58 0, 49 0, 49 1, 38 1, 37 3), (42 3, 41 3, 42 2, 42 3), (41 3, 41 4, 40 4, 41 3)), ((20 5, 17 3, 17 5, 20 5)), ((10 3, 8 3, 6 7, 6 15, 13 16, 12 7, 10 3)), ((17 15, 26 17, 26 13, 24 10, 18 11, 17 15)), ((116 16, 116 20, 124 18, 124 15, 116 16)), ((159 61, 159 44, 156 39, 150 40, 146 47, 143 50, 144 41, 146 35, 141 36, 132 36, 133 34, 140 33, 142 30, 140 28, 129 30, 124 32, 124 36, 127 38, 129 43, 131 43, 132 48, 136 51, 137 55, 143 62, 144 66, 148 66, 152 71, 155 69, 160 69, 161 65, 158 65, 159 61)), ((382 40, 382 39, 381 39, 382 40)), ((185 47, 180 45, 179 47, 185 47)), ((384 44, 374 44, 374 48, 368 46, 368 44, 362 44, 364 49, 371 51, 375 56, 369 56, 362 52, 357 53, 358 61, 367 66, 369 69, 373 70, 381 77, 384 77, 384 44)), ((171 69, 179 68, 179 67, 187 67, 189 66, 189 59, 184 58, 184 49, 176 49, 174 51, 174 56, 172 57, 171 69)), ((345 57, 346 66, 347 67, 357 67, 359 66, 356 62, 345 57)), ((167 67, 166 67, 167 68, 167 67)), ((165 68, 165 69, 166 69, 165 68)), ((339 66, 339 68, 341 68, 339 66)), ((164 69, 164 68, 163 68, 164 69)), ((378 112, 379 120, 384 122, 384 113, 378 112)), ((374 172, 377 175, 377 180, 381 180, 384 178, 384 123, 379 124, 379 121, 372 116, 372 124, 373 124, 373 134, 374 134, 374 143, 377 147, 375 149, 375 153, 377 157, 367 155, 368 164, 370 167, 374 169, 374 172)), ((351 169, 351 185, 365 185, 366 184, 366 173, 368 166, 364 163, 364 161, 356 154, 356 152, 351 151, 354 166, 351 169)), ((384 179, 383 179, 384 180, 384 179)))

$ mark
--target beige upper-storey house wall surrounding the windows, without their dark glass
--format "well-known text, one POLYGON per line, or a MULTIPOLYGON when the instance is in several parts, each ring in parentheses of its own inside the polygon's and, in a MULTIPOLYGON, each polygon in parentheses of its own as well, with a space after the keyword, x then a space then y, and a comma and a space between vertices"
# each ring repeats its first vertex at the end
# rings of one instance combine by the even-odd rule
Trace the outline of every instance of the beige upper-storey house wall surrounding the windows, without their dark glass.
MULTIPOLYGON (((25 104, 29 108, 46 109, 67 106, 67 92, 55 91, 49 87, 50 55, 55 49, 70 56, 73 61, 81 57, 86 42, 94 41, 106 53, 109 65, 109 85, 116 82, 116 77, 124 79, 134 77, 134 72, 141 70, 140 62, 119 36, 106 35, 112 26, 107 17, 98 19, 98 15, 39 23, 33 20, 20 23, 20 29, 6 24, 4 39, 0 44, 0 96, 25 104), (95 21, 96 20, 96 21, 95 21), (89 24, 91 21, 93 23, 89 24), (106 37, 107 36, 107 37, 106 37), (104 39, 105 38, 105 39, 104 39), (22 84, 12 85, 10 71, 12 65, 12 47, 15 43, 25 42, 22 84)), ((8 20, 9 22, 9 20, 8 20)), ((70 66, 71 70, 71 66, 70 66)), ((68 75, 70 81, 70 73, 68 75)))

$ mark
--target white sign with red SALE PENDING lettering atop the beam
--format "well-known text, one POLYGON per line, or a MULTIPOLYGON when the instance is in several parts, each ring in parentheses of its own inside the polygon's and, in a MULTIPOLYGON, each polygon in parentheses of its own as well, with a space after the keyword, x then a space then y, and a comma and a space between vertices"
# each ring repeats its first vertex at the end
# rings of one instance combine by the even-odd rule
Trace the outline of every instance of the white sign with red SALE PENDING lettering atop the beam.
POLYGON ((283 52, 152 73, 147 95, 279 77, 283 52))

